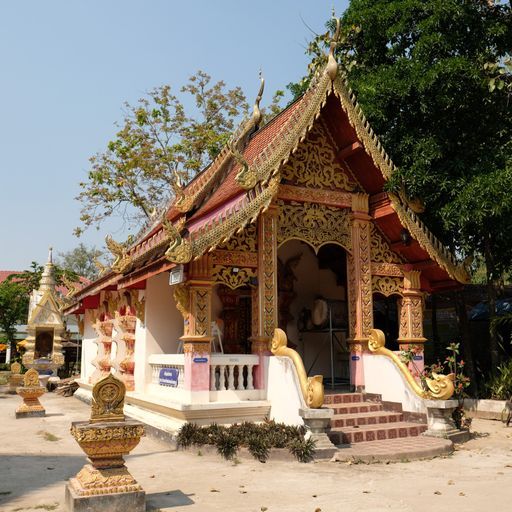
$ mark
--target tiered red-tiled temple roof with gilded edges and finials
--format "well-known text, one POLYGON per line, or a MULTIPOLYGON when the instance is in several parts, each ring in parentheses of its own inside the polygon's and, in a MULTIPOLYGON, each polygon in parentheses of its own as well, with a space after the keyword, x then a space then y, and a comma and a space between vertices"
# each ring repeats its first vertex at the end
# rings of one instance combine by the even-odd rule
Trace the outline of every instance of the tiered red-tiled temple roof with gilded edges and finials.
POLYGON ((108 286, 135 286, 175 264, 199 258, 254 222, 275 198, 283 164, 319 117, 332 135, 339 159, 370 195, 375 223, 393 250, 423 270, 425 287, 433 290, 467 282, 463 266, 427 229, 405 196, 383 192, 395 165, 346 80, 337 73, 332 51, 324 72, 305 94, 261 129, 258 104, 217 158, 186 187, 177 188, 162 221, 129 249, 111 243, 116 255, 112 270, 82 289, 77 299, 108 286), (403 228, 413 239, 408 246, 399 244, 403 228))

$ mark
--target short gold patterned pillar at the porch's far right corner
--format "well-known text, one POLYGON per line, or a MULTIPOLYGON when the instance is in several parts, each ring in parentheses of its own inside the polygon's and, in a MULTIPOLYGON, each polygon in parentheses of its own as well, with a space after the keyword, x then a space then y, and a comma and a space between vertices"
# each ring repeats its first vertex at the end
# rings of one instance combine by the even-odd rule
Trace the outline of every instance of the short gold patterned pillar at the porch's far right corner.
POLYGON ((423 352, 423 292, 420 271, 404 271, 404 290, 400 305, 400 349, 413 348, 423 352))

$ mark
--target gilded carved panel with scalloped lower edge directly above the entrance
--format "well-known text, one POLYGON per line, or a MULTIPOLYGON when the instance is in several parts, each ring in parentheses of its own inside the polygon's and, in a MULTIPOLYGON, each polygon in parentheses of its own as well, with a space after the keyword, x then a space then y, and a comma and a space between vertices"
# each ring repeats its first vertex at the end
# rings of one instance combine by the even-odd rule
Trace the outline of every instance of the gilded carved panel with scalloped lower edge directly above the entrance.
POLYGON ((316 251, 326 243, 338 243, 352 250, 352 216, 348 209, 315 203, 278 201, 277 243, 292 238, 309 243, 316 251))

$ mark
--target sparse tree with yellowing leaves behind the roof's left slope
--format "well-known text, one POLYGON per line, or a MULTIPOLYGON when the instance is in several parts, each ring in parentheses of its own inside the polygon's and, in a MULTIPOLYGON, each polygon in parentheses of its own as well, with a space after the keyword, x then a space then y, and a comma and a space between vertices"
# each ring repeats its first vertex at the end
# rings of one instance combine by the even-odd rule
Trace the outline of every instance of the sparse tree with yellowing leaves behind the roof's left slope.
POLYGON ((153 89, 136 105, 125 104, 120 130, 90 159, 87 180, 80 183, 83 227, 76 235, 112 215, 128 223, 149 219, 170 198, 177 179, 188 181, 218 154, 248 111, 240 87, 211 83, 203 71, 181 92, 194 104, 192 115, 169 85, 153 89))

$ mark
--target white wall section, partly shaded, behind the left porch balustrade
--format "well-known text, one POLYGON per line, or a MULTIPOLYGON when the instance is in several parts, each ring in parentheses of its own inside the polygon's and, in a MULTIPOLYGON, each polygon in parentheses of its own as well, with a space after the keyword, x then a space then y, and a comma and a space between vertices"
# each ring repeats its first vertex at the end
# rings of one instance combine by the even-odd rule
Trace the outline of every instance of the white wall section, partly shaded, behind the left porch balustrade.
MULTIPOLYGON (((141 292, 140 292, 141 293, 141 292)), ((144 392, 151 382, 151 354, 175 354, 183 335, 183 316, 176 308, 168 272, 150 277, 146 283, 145 324, 135 331, 135 391, 144 392)))

